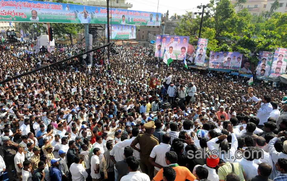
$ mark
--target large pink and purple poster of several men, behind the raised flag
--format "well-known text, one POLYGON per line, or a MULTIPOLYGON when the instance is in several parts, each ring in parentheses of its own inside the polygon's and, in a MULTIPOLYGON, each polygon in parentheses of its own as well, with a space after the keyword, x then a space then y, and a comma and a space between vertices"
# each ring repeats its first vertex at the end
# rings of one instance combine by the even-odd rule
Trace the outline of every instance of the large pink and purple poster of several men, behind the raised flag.
POLYGON ((183 60, 187 54, 189 37, 157 35, 155 57, 163 58, 164 50, 173 60, 183 60))

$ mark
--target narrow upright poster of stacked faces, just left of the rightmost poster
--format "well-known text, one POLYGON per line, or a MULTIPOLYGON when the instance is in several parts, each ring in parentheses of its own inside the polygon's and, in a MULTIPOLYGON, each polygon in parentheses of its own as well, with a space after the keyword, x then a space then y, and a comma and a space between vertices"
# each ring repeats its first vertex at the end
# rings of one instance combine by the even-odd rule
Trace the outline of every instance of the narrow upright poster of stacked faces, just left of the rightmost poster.
POLYGON ((272 65, 273 52, 260 51, 256 67, 257 78, 268 77, 272 65))

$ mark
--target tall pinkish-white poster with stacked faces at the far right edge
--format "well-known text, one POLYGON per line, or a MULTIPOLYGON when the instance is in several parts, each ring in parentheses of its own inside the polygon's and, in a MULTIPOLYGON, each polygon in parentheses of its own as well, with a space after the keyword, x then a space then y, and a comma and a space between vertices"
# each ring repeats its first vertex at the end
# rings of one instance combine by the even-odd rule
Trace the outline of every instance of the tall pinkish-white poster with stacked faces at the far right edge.
POLYGON ((276 78, 286 71, 287 66, 287 48, 276 48, 269 77, 276 78))

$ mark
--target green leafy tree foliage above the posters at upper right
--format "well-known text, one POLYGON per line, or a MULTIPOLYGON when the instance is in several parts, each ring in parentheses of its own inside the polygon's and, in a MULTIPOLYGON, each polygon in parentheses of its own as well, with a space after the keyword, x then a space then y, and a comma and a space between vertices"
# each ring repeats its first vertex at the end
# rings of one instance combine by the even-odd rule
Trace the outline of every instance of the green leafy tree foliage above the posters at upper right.
MULTIPOLYGON (((247 8, 235 12, 235 7, 246 2, 239 0, 232 5, 229 0, 211 0, 203 18, 202 36, 208 38, 209 51, 239 51, 252 62, 257 61, 259 51, 274 51, 287 47, 287 13, 277 13, 276 0, 271 9, 259 15, 251 15, 247 8)), ((183 16, 175 33, 190 36, 189 43, 196 45, 200 16, 183 16)))

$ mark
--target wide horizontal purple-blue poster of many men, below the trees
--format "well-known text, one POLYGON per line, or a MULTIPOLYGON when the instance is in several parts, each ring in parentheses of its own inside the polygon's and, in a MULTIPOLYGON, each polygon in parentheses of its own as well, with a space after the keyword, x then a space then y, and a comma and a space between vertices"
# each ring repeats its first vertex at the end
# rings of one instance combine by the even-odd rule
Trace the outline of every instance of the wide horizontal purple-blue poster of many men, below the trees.
POLYGON ((239 71, 241 61, 240 52, 210 52, 209 68, 239 71))

